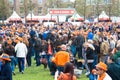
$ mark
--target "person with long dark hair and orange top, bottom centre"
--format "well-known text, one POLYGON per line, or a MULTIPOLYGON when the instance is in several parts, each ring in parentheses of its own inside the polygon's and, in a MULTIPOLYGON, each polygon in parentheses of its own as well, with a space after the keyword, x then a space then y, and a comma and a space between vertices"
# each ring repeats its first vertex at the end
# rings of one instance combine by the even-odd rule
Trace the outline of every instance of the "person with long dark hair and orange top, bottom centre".
POLYGON ((64 66, 64 71, 61 72, 58 80, 77 80, 76 76, 74 75, 74 68, 73 64, 67 62, 64 66))

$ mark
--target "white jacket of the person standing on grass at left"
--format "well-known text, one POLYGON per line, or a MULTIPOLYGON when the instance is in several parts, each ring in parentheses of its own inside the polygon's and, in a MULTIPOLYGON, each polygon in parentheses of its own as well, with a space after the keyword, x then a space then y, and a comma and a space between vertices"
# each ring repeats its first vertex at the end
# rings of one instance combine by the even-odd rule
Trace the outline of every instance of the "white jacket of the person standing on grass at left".
POLYGON ((16 57, 26 57, 27 51, 27 47, 24 43, 19 42, 15 45, 16 57))

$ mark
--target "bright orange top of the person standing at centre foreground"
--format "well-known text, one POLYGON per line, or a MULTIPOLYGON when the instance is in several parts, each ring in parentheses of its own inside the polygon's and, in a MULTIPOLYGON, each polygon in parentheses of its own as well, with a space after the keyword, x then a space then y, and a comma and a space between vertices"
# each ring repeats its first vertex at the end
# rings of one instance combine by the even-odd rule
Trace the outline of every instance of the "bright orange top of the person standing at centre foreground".
POLYGON ((53 62, 57 66, 64 66, 66 62, 70 62, 70 54, 66 51, 59 51, 55 54, 53 62))

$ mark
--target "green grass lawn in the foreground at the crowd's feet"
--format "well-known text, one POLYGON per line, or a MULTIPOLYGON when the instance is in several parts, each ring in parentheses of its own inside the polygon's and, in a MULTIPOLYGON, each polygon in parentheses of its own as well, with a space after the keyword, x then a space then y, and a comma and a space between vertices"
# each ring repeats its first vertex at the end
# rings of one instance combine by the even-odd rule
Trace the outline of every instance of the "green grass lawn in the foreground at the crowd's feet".
MULTIPOLYGON (((19 73, 18 68, 15 69, 16 75, 13 75, 13 80, 54 80, 48 69, 44 69, 43 65, 36 67, 35 63, 31 67, 25 68, 24 74, 19 73)), ((88 80, 85 75, 82 75, 77 80, 88 80)))

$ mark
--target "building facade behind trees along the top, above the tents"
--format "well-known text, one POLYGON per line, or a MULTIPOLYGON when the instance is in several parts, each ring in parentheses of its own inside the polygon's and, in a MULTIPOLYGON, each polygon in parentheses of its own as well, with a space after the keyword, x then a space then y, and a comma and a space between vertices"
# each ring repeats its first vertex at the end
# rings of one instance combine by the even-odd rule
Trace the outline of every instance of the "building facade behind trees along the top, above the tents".
POLYGON ((101 11, 118 16, 120 0, 6 0, 10 13, 15 10, 21 17, 33 12, 35 15, 47 14, 48 8, 75 8, 86 17, 98 16, 101 11))

